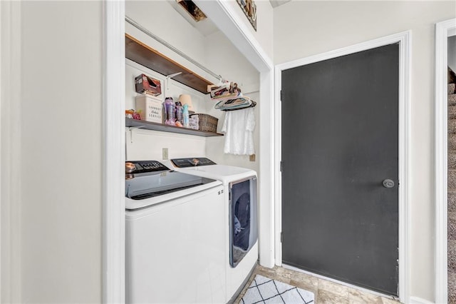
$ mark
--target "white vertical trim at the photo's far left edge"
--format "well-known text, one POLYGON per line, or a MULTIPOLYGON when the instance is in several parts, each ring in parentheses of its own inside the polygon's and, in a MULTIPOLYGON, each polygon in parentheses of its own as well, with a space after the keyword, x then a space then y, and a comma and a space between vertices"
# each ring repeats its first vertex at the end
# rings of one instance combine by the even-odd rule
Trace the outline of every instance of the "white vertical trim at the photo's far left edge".
POLYGON ((1 298, 21 303, 21 2, 1 6, 1 298))

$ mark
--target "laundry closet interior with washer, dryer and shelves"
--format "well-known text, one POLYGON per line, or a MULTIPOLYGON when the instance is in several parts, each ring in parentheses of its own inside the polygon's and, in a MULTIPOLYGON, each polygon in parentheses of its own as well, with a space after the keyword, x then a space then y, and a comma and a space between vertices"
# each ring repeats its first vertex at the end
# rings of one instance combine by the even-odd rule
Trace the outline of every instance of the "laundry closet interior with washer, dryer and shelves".
POLYGON ((127 303, 231 303, 259 257, 259 72, 211 21, 187 14, 175 1, 125 4, 127 303), (153 86, 155 96, 140 93, 138 83, 153 86), (242 90, 249 106, 214 108, 208 86, 225 83, 242 90), (183 128, 169 116, 175 101, 199 123, 218 119, 217 128, 198 130, 192 116, 183 128), (249 153, 238 155, 229 133, 242 119, 249 132, 239 131, 251 137, 249 153), (232 153, 224 153, 227 139, 232 153))

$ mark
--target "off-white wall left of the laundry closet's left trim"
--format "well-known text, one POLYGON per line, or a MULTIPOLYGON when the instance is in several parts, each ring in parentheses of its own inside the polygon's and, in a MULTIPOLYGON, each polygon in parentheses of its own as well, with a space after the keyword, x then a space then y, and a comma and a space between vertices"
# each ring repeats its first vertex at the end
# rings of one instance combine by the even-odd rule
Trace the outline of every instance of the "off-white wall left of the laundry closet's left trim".
POLYGON ((20 263, 11 271, 21 279, 12 299, 100 303, 103 4, 24 1, 20 15, 20 110, 11 116, 21 130, 11 156, 20 263))

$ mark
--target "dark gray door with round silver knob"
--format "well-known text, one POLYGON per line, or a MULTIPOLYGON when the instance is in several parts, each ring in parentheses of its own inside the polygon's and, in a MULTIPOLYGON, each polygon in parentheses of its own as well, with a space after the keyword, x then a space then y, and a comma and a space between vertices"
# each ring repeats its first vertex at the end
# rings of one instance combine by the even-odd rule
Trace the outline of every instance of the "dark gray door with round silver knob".
POLYGON ((398 76, 398 44, 282 72, 283 263, 398 295, 398 76))

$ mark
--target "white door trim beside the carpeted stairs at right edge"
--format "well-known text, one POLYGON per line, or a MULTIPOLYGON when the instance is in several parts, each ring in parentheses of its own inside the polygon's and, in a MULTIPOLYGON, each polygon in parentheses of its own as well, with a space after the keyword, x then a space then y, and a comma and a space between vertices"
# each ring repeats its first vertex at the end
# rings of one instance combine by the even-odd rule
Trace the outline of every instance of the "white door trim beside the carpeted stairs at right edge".
POLYGON ((435 24, 435 303, 447 303, 447 38, 456 19, 435 24))

